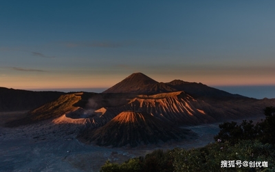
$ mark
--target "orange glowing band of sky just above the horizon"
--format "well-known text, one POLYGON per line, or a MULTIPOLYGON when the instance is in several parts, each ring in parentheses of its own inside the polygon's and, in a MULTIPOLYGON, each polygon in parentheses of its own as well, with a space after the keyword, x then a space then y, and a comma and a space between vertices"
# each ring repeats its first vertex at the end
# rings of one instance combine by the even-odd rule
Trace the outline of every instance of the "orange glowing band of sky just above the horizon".
MULTIPOLYGON (((168 83, 174 79, 184 80, 187 82, 203 83, 208 86, 245 86, 245 85, 275 85, 275 80, 272 76, 255 77, 255 76, 159 76, 148 75, 158 82, 168 83)), ((94 77, 70 77, 62 76, 43 78, 1 78, 3 83, 1 87, 8 87, 13 89, 98 89, 109 88, 119 83, 126 78, 122 75, 104 75, 94 77)))

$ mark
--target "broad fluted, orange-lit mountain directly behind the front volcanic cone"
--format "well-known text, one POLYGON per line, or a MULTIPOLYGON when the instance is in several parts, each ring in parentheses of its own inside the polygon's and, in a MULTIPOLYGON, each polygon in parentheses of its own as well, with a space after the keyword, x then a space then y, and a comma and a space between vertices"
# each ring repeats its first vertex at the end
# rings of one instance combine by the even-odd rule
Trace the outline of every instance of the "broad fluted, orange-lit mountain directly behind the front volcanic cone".
POLYGON ((260 115, 264 107, 261 100, 250 98, 214 101, 193 98, 185 92, 170 92, 137 95, 126 105, 106 107, 95 120, 104 125, 122 111, 142 111, 173 125, 197 125, 260 115))

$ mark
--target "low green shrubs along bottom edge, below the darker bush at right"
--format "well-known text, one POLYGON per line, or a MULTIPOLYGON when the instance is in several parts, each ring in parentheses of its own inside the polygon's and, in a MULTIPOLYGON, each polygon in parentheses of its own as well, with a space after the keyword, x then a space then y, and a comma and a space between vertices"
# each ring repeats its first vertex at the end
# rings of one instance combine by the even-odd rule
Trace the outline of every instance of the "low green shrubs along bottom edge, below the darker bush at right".
POLYGON ((122 164, 107 161, 100 170, 109 171, 275 171, 275 149, 259 140, 214 142, 198 149, 157 150, 145 157, 132 158, 122 164), (234 160, 234 167, 221 167, 221 161, 234 160), (236 166, 236 160, 268 162, 268 168, 236 166))

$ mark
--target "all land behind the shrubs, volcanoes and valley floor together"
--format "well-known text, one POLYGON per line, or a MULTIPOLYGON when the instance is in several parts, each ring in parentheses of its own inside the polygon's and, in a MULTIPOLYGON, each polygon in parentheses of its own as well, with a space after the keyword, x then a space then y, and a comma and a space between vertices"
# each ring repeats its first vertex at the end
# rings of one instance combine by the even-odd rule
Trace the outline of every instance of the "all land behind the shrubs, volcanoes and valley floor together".
POLYGON ((135 73, 102 94, 0 89, 0 171, 98 171, 150 151, 203 147, 219 122, 263 118, 275 99, 135 73))

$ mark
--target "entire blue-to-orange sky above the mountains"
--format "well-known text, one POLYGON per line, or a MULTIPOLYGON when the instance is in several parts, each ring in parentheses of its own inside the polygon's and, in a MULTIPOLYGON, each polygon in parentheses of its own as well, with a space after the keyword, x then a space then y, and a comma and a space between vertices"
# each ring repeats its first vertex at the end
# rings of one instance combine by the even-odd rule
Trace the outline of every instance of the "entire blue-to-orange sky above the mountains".
POLYGON ((275 1, 0 1, 0 87, 275 85, 275 1))

